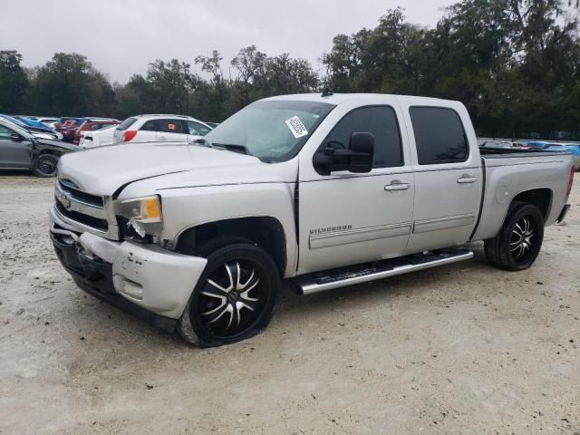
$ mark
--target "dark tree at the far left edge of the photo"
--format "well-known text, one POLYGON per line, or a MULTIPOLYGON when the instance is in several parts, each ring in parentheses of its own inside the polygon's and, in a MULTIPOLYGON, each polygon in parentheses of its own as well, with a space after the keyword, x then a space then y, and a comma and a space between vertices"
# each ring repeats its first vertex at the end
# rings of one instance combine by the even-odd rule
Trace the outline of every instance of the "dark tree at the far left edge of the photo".
POLYGON ((22 55, 14 50, 0 51, 0 112, 24 111, 24 95, 29 86, 22 55))

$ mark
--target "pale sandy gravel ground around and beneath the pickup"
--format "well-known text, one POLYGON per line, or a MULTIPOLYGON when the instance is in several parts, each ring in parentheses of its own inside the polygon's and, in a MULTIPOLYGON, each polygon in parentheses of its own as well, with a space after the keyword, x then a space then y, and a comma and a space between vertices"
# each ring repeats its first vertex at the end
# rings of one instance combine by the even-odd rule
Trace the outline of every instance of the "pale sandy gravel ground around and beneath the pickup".
POLYGON ((0 433, 580 434, 580 179, 530 270, 475 260, 285 291, 265 333, 200 350, 83 294, 53 179, 0 176, 0 433))

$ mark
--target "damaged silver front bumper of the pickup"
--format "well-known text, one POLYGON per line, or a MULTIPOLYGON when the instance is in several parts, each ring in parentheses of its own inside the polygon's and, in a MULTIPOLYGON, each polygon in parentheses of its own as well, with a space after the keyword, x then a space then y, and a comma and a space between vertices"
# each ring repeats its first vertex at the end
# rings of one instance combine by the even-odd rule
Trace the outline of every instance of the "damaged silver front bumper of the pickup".
POLYGON ((205 258, 75 232, 54 207, 50 220, 54 250, 77 285, 160 329, 174 329, 206 266, 205 258))

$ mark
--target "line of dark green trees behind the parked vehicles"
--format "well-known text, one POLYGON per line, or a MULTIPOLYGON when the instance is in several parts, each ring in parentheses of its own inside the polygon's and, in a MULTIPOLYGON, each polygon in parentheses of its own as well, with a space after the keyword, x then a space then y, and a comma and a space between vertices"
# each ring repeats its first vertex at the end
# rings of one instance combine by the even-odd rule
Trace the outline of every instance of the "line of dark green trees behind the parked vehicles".
POLYGON ((266 96, 328 87, 459 100, 481 136, 580 139, 580 40, 569 3, 464 0, 433 28, 391 9, 372 29, 334 36, 323 74, 304 59, 251 45, 229 63, 218 51, 199 55, 203 77, 189 63, 156 60, 120 84, 82 54, 55 53, 25 68, 20 53, 2 51, 0 112, 120 119, 169 112, 223 121, 266 96))

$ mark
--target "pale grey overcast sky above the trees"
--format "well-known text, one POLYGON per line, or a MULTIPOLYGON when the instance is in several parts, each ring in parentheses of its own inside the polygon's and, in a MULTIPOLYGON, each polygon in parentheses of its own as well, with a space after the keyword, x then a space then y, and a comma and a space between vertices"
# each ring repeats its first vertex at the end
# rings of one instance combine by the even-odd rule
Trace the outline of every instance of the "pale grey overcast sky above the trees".
POLYGON ((0 50, 24 65, 55 52, 82 53, 112 81, 145 73, 155 59, 191 63, 218 50, 227 73, 238 50, 255 44, 268 55, 290 53, 322 71, 319 58, 335 34, 374 27, 403 5, 407 21, 432 26, 453 0, 0 0, 0 50))

